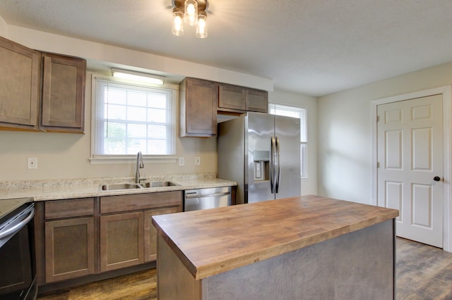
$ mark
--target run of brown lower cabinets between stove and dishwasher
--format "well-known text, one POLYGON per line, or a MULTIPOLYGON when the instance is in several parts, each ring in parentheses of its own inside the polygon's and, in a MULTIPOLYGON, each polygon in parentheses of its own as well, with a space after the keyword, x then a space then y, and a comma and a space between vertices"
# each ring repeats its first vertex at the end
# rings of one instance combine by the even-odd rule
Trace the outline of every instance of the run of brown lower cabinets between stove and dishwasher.
POLYGON ((182 191, 38 202, 38 285, 155 261, 153 215, 182 211, 182 191))

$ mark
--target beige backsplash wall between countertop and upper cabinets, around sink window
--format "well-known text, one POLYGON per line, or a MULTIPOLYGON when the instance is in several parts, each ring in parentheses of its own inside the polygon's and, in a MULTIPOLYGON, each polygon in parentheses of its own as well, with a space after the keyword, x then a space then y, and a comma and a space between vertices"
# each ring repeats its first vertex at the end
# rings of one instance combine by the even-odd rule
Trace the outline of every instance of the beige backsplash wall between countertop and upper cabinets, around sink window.
MULTIPOLYGON (((118 164, 91 164, 91 73, 86 82, 85 135, 54 132, 0 131, 0 181, 47 180, 134 176, 136 160, 118 164), (27 158, 37 158, 37 169, 27 168, 27 158)), ((178 138, 177 156, 185 165, 145 161, 142 176, 188 173, 216 173, 215 138, 178 138), (201 156, 201 165, 194 157, 201 156)))

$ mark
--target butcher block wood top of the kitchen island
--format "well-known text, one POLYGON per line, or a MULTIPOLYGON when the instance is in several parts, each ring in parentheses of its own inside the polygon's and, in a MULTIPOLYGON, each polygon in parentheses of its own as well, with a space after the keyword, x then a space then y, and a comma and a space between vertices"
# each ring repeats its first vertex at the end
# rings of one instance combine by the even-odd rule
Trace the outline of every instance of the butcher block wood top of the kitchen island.
POLYGON ((201 280, 397 216, 390 208, 301 196, 156 215, 152 222, 194 279, 201 280))

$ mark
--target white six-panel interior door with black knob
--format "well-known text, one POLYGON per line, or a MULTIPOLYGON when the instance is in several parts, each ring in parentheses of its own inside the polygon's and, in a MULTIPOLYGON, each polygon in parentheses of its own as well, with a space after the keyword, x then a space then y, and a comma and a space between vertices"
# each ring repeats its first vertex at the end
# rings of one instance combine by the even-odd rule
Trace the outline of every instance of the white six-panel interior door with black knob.
POLYGON ((399 237, 442 248, 442 96, 382 104, 377 115, 378 205, 400 211, 399 237))

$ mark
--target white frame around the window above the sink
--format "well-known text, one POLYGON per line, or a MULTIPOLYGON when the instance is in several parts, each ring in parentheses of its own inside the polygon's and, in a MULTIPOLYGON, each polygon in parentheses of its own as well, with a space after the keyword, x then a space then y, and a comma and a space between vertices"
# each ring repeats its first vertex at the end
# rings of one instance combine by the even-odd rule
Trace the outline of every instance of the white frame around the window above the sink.
POLYGON ((179 114, 179 86, 178 85, 171 85, 171 84, 165 84, 165 85, 157 85, 157 84, 148 84, 143 82, 137 82, 134 80, 124 80, 119 79, 112 76, 105 76, 105 75, 98 75, 93 74, 92 75, 92 90, 91 90, 91 146, 90 146, 90 163, 91 164, 103 164, 103 163, 131 163, 136 160, 136 154, 95 154, 95 143, 97 134, 95 132, 96 127, 95 123, 97 122, 97 110, 99 109, 97 101, 97 80, 108 80, 111 82, 117 82, 119 84, 124 85, 131 85, 136 86, 138 88, 144 87, 156 87, 160 89, 169 89, 172 92, 172 100, 173 104, 172 107, 174 108, 174 111, 172 113, 172 139, 174 143, 174 154, 143 154, 143 159, 146 161, 155 161, 160 163, 176 163, 177 162, 177 128, 178 128, 178 122, 179 118, 177 118, 177 115, 179 114))

